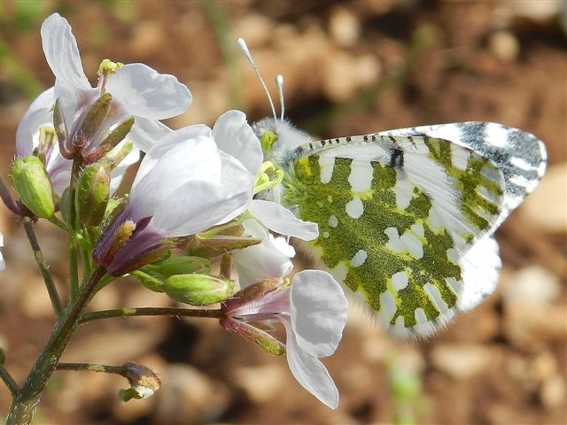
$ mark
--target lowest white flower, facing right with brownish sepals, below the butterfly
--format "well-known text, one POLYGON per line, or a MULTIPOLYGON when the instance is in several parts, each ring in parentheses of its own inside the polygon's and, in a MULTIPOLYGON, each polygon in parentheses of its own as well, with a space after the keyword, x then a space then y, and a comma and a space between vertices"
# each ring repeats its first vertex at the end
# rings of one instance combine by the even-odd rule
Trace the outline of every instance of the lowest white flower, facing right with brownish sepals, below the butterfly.
MULTIPOLYGON (((277 281, 276 281, 277 282, 277 281)), ((281 282, 281 280, 279 281, 281 282)), ((270 347, 274 343, 254 322, 280 321, 285 327, 285 352, 295 379, 323 404, 338 406, 338 390, 319 358, 337 350, 346 324, 347 301, 333 277, 320 270, 304 270, 293 277, 291 286, 266 287, 264 282, 246 288, 221 309, 223 328, 270 347)))

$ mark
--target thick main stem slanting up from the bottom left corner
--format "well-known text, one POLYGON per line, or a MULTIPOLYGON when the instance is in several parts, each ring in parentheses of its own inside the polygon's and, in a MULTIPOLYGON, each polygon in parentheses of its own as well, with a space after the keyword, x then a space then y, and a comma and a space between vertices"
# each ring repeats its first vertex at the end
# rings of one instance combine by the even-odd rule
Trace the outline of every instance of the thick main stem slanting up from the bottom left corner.
POLYGON ((35 365, 27 375, 18 395, 12 401, 12 408, 6 425, 24 425, 32 421, 43 389, 50 375, 55 371, 58 360, 65 352, 71 336, 79 326, 79 319, 83 310, 95 295, 97 283, 105 273, 104 268, 97 267, 90 275, 89 282, 82 288, 79 297, 72 300, 59 316, 55 328, 51 332, 50 340, 35 361, 35 365))

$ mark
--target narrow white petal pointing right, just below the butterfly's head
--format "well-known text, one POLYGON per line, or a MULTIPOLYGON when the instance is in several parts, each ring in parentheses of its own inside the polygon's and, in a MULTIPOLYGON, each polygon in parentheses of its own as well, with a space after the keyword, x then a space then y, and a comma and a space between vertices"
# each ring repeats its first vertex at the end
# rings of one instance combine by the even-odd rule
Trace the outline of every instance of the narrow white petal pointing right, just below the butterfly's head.
POLYGON ((304 241, 311 241, 319 236, 316 223, 299 220, 290 210, 276 202, 254 199, 250 212, 264 226, 280 235, 294 236, 304 241))

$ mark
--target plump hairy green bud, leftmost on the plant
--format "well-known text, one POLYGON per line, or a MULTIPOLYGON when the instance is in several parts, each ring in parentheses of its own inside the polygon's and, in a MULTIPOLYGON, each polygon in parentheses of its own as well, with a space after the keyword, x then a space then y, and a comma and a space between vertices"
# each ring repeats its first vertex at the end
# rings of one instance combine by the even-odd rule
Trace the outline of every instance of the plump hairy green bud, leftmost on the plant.
POLYGON ((12 175, 21 203, 39 218, 53 217, 53 185, 41 159, 34 156, 17 158, 12 164, 12 175))

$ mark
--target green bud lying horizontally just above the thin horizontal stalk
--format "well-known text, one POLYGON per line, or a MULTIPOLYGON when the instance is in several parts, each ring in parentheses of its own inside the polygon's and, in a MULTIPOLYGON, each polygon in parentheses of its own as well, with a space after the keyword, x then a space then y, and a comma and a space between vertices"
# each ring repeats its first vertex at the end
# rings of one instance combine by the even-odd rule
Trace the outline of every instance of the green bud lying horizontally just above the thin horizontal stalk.
POLYGON ((209 274, 175 274, 167 278, 163 291, 176 301, 189 305, 221 303, 232 295, 234 282, 209 274))

